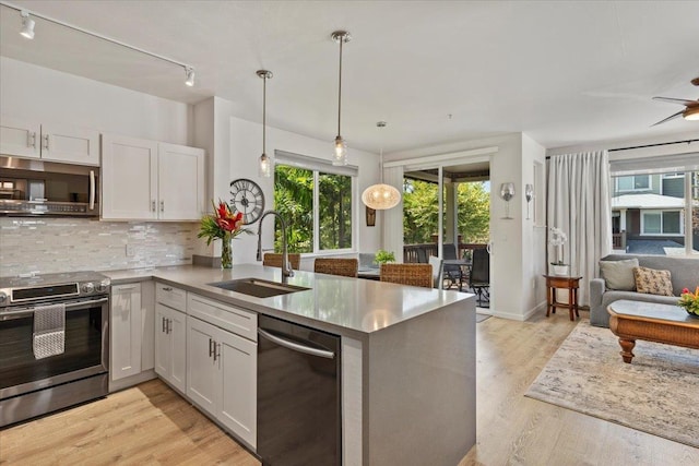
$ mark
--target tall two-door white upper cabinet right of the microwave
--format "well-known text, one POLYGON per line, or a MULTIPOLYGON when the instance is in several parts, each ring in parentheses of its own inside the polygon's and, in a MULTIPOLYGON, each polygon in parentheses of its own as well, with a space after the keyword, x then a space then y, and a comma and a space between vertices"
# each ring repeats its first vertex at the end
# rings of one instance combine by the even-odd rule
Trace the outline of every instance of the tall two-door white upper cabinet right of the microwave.
POLYGON ((102 152, 103 219, 201 218, 203 150, 103 134, 102 152))

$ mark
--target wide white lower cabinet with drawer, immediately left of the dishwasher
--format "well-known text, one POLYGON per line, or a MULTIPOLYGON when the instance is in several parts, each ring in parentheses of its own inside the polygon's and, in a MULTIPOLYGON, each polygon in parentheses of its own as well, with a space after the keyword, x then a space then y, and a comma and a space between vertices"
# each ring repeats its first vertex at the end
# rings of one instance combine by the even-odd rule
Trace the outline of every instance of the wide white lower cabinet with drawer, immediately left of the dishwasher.
MULTIPOLYGON (((257 315, 211 301, 188 296, 187 316, 187 396, 216 418, 234 434, 253 449, 257 446, 257 343, 212 323, 257 315), (192 309, 193 306, 193 309, 192 309)), ((225 323, 223 324, 226 325, 225 323)))

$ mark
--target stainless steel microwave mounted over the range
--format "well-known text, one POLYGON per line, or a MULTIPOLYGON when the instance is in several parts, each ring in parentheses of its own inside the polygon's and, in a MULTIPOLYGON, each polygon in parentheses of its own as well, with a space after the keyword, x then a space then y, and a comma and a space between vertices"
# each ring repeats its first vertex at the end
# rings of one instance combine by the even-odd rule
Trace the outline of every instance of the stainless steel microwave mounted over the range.
POLYGON ((99 216, 99 167, 0 156, 0 215, 99 216))

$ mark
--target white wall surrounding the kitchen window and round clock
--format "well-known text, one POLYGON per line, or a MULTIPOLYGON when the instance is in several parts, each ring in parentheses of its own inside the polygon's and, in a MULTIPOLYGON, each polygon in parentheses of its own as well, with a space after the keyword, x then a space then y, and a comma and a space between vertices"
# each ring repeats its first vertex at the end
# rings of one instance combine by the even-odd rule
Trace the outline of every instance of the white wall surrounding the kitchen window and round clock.
MULTIPOLYGON (((229 200, 230 181, 238 178, 248 178, 256 181, 262 188, 265 199, 265 210, 273 208, 274 182, 272 178, 258 177, 258 158, 262 153, 262 124, 244 120, 234 116, 234 104, 214 97, 213 101, 213 135, 200 134, 197 138, 213 138, 209 141, 196 143, 202 147, 213 147, 211 152, 211 169, 209 174, 212 183, 210 194, 214 200, 229 200)), ((196 127, 204 124, 210 119, 211 103, 209 100, 197 104, 194 108, 196 127)), ((310 157, 330 160, 332 154, 332 141, 321 141, 305 135, 292 133, 276 128, 266 128, 266 153, 272 156, 275 150, 308 155, 310 157)), ((364 204, 359 199, 362 191, 368 186, 378 182, 378 155, 363 151, 348 148, 350 165, 359 167, 357 177, 357 193, 354 199, 356 205, 355 219, 353 222, 354 234, 358 234, 357 249, 360 251, 376 251, 380 248, 380 224, 377 218, 376 227, 367 227, 364 214, 364 204)), ((292 226, 293 228, 293 226, 292 226)), ((258 224, 249 227, 257 234, 258 224)), ((263 227, 263 247, 271 248, 273 242, 273 223, 265 218, 263 227)), ((233 242, 234 263, 256 261, 257 235, 241 235, 233 242)), ((211 251, 220 254, 220 246, 211 251)), ((301 268, 312 268, 312 259, 304 260, 301 268)))

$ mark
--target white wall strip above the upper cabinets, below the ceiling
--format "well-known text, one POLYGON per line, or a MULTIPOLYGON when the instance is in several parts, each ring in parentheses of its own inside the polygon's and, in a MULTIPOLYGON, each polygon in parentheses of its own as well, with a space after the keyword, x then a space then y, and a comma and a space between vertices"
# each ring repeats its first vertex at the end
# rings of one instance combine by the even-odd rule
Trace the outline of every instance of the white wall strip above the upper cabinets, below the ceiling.
POLYGON ((192 108, 0 57, 0 113, 191 145, 192 108))

